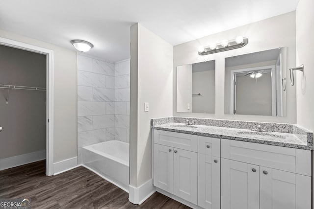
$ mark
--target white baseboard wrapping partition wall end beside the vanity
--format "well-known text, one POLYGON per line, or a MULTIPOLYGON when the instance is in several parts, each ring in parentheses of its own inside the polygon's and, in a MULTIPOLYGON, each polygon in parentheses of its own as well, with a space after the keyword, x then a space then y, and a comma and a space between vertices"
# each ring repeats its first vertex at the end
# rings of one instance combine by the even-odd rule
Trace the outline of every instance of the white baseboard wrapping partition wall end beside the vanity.
POLYGON ((153 179, 148 180, 146 183, 139 187, 130 185, 129 201, 133 204, 142 204, 147 198, 149 198, 156 191, 153 186, 153 179))

